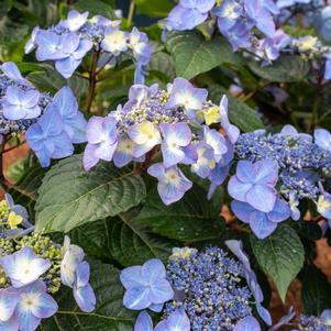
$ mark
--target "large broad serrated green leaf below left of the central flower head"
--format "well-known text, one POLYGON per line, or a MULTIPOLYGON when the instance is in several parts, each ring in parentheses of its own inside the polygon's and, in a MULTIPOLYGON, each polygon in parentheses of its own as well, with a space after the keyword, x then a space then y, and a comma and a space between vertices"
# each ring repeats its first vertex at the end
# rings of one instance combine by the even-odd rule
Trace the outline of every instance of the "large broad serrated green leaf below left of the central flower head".
POLYGON ((145 196, 141 176, 110 163, 100 163, 85 172, 82 157, 75 155, 47 172, 35 207, 36 230, 67 232, 126 211, 145 196))

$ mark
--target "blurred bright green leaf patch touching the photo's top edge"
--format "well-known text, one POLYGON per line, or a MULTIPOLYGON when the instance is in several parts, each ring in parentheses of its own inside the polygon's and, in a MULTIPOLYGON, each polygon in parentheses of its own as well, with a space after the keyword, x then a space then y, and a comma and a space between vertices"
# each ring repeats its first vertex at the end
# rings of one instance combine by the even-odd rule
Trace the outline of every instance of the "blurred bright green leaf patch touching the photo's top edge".
POLYGON ((151 18, 166 18, 174 7, 169 0, 135 0, 136 13, 148 15, 151 18))

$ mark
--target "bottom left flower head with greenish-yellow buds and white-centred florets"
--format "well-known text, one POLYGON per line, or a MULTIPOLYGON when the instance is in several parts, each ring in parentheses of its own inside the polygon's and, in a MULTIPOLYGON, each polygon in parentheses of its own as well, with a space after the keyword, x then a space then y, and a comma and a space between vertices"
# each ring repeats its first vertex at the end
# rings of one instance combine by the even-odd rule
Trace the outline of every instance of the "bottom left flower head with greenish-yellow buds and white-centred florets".
POLYGON ((56 313, 53 295, 63 285, 73 288, 82 311, 95 310, 89 264, 79 246, 32 232, 26 210, 9 195, 0 202, 0 330, 36 330, 56 313))

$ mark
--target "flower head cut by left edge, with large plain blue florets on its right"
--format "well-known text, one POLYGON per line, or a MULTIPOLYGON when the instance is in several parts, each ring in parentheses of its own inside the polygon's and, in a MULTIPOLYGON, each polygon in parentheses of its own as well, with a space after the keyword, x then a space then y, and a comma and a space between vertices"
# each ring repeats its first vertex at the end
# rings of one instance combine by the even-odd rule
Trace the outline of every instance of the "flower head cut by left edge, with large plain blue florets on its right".
POLYGON ((1 65, 0 136, 8 141, 25 134, 42 166, 74 153, 86 141, 86 120, 68 86, 54 97, 40 92, 13 63, 1 65))

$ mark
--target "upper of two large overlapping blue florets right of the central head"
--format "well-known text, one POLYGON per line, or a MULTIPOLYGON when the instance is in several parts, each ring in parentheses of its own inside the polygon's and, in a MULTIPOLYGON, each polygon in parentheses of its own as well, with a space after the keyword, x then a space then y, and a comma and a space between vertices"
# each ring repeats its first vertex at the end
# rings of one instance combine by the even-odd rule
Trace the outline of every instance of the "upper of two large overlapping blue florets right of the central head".
POLYGON ((275 162, 264 159, 253 164, 250 161, 240 161, 228 190, 232 198, 247 202, 260 211, 269 212, 276 202, 277 180, 278 166, 275 162))

